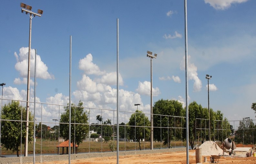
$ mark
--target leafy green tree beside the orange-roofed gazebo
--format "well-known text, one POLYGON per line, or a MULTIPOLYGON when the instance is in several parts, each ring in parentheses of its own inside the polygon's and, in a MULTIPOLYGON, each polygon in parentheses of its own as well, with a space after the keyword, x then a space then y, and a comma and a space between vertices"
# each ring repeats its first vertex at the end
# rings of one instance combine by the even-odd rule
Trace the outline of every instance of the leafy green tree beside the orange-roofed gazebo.
MULTIPOLYGON (((73 153, 75 145, 79 145, 86 138, 89 132, 87 111, 84 112, 83 102, 79 101, 78 105, 71 104, 71 140, 73 142, 73 153), (76 119, 75 119, 76 118, 76 119), (74 124, 76 121, 76 124, 74 124), (75 136, 76 128, 76 136, 75 136)), ((69 139, 69 106, 64 107, 64 113, 60 116, 60 135, 65 141, 69 139)))

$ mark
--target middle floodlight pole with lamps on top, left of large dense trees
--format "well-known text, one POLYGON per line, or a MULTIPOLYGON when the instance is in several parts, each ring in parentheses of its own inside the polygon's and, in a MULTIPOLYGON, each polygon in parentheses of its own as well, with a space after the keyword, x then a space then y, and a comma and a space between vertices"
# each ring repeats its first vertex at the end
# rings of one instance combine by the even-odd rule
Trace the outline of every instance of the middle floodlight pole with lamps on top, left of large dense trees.
MULTIPOLYGON (((147 57, 150 58, 150 70, 151 70, 151 87, 150 87, 150 95, 151 95, 151 102, 150 102, 150 150, 153 150, 153 101, 152 101, 152 59, 157 58, 157 54, 152 56, 152 52, 147 51, 147 57)), ((137 106, 138 107, 138 106, 137 106)))

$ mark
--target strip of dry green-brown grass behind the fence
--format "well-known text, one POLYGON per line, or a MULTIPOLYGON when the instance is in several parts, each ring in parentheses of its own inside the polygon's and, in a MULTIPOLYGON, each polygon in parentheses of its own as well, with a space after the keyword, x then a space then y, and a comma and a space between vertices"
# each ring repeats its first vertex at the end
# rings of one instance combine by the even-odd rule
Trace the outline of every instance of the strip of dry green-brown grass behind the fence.
MULTIPOLYGON (((60 142, 61 143, 61 142, 60 142)), ((176 141, 171 142, 171 146, 181 146, 181 144, 184 146, 186 145, 186 142, 176 141)), ((42 140, 42 147, 41 147, 41 139, 36 139, 35 144, 35 153, 40 154, 42 151, 42 154, 48 154, 48 153, 56 153, 58 154, 57 146, 58 141, 49 141, 49 140, 42 140)), ((117 149, 117 142, 115 141, 115 150, 117 149)), ((150 142, 140 142, 141 150, 150 149, 150 142)), ((167 145, 161 144, 161 142, 153 142, 154 148, 167 148, 167 145)), ((33 142, 28 144, 28 154, 33 154, 33 142)), ((19 154, 20 154, 20 147, 19 147, 19 154)), ((119 150, 139 150, 139 143, 138 142, 119 142, 119 150)), ((73 151, 73 149, 72 149, 73 151)), ((83 142, 79 144, 79 147, 77 149, 78 152, 104 152, 104 151, 111 151, 108 147, 108 143, 106 142, 83 142)), ((62 148, 59 150, 60 154, 62 154, 62 148)), ((64 148, 64 153, 66 152, 66 148, 64 148)), ((12 152, 11 150, 6 150, 4 147, 2 147, 2 155, 5 154, 16 154, 15 152, 12 152)), ((22 153, 24 154, 24 145, 22 145, 22 153)))

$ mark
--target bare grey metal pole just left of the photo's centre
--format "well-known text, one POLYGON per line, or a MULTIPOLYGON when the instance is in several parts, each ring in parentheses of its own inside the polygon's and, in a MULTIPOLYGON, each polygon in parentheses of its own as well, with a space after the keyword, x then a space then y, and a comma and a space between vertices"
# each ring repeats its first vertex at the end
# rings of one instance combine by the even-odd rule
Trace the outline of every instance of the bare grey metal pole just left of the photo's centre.
MULTIPOLYGON (((118 101, 119 101, 119 19, 117 18, 117 164, 119 163, 119 107, 118 107, 118 101)), ((115 137, 115 135, 114 135, 115 137)), ((115 142, 115 141, 114 141, 115 142)))

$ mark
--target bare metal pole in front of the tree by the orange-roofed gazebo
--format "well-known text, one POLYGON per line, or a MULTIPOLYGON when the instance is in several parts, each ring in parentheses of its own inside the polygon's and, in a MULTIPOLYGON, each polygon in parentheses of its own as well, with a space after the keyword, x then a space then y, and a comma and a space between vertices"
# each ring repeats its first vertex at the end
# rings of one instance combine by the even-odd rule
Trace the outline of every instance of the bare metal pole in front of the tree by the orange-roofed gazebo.
POLYGON ((70 151, 71 151, 71 52, 72 52, 72 36, 70 35, 70 48, 69 48, 69 136, 68 136, 68 164, 71 163, 71 155, 70 155, 70 151))

